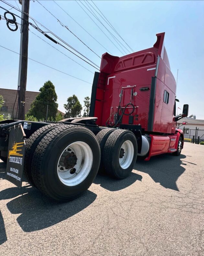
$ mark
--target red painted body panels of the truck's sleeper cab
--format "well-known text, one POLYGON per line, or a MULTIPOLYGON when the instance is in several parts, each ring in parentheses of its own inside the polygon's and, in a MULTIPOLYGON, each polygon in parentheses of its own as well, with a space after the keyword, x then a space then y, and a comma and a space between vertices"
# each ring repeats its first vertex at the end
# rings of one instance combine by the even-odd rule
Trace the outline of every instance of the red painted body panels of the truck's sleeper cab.
MULTIPOLYGON (((178 139, 183 132, 176 129, 173 111, 176 94, 176 81, 170 70, 168 56, 164 47, 164 33, 156 35, 157 41, 152 48, 139 52, 131 53, 123 57, 111 56, 108 53, 103 54, 100 66, 100 75, 96 91, 95 114, 97 124, 106 126, 114 122, 114 113, 118 112, 119 94, 122 87, 135 86, 133 96, 130 100, 131 88, 123 89, 121 98, 121 107, 128 103, 135 106, 134 125, 141 125, 142 132, 157 132, 166 135, 150 135, 152 138, 149 156, 172 152, 169 149, 177 149, 178 139), (156 76, 156 91, 154 102, 153 129, 148 131, 148 117, 150 106, 150 92, 152 77, 155 76, 157 58, 160 56, 158 73, 156 76), (149 70, 152 69, 153 70, 149 70), (141 91, 142 87, 148 87, 149 90, 141 91), (164 102, 164 90, 169 93, 169 102, 164 102), (138 115, 137 118, 135 115, 138 115), (110 121, 110 122, 109 122, 110 121), (176 139, 176 140, 175 140, 176 139)), ((130 113, 132 108, 126 109, 125 113, 130 113)), ((121 114, 121 110, 119 112, 121 114)), ((129 116, 123 115, 121 120, 123 124, 129 124, 129 116)))

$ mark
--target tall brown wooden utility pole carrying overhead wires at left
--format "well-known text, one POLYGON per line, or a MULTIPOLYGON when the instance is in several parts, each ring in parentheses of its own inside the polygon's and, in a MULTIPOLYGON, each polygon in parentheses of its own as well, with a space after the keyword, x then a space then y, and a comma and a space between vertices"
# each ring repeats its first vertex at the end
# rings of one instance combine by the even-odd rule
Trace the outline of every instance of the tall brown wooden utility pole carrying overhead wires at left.
POLYGON ((20 36, 20 58, 18 70, 18 119, 25 119, 25 101, 26 101, 26 83, 28 69, 28 15, 29 15, 29 0, 19 0, 22 5, 21 13, 21 36, 20 36))

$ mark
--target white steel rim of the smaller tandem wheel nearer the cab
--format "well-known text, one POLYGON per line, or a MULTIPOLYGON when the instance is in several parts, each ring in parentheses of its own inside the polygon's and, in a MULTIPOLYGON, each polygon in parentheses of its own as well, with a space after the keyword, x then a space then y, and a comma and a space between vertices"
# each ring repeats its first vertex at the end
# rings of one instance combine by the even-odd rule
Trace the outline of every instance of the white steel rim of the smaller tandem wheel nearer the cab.
POLYGON ((130 140, 126 140, 120 147, 121 149, 124 150, 124 155, 122 158, 119 157, 119 164, 122 169, 127 169, 134 157, 134 146, 130 140))

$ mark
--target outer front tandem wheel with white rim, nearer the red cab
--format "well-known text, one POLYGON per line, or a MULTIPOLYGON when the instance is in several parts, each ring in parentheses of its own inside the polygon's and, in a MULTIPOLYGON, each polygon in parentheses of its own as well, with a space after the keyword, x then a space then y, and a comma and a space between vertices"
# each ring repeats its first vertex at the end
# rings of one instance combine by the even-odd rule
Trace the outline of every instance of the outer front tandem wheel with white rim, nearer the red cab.
POLYGON ((137 159, 137 140, 127 130, 115 130, 104 146, 103 164, 107 173, 117 179, 130 175, 137 159))

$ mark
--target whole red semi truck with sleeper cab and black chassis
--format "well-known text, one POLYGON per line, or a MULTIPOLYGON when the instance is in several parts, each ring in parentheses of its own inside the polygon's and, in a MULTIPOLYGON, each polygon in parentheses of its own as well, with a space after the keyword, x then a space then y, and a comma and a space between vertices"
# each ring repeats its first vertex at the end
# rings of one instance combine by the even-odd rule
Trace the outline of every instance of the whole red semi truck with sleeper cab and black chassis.
MULTIPOLYGON (((95 72, 90 115, 60 122, 0 122, 0 159, 6 179, 31 186, 50 198, 80 196, 97 173, 124 179, 137 156, 179 156, 184 144, 176 121, 176 81, 164 47, 164 33, 153 47, 123 57, 102 55, 95 72)), ((172 161, 174 159, 172 158, 172 161)))

